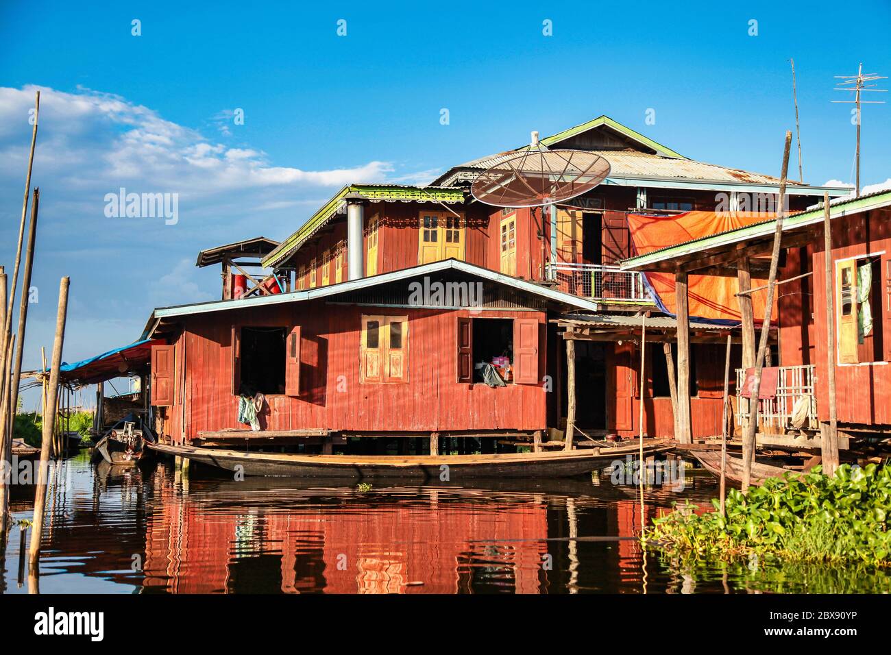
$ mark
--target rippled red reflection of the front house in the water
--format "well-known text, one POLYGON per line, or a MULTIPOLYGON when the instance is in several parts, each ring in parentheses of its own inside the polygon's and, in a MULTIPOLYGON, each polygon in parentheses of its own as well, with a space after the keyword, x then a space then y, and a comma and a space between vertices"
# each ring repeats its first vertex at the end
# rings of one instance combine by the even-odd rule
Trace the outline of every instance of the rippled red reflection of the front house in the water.
MULTIPOLYGON (((611 570, 607 577, 618 579, 609 586, 641 579, 634 539, 584 542, 633 537, 640 509, 631 499, 605 505, 504 489, 375 487, 363 494, 293 485, 204 480, 190 490, 170 475, 153 476, 143 590, 572 593, 583 561, 589 585, 591 569, 600 569, 598 577, 611 570)), ((655 511, 648 507, 648 520, 655 511)))

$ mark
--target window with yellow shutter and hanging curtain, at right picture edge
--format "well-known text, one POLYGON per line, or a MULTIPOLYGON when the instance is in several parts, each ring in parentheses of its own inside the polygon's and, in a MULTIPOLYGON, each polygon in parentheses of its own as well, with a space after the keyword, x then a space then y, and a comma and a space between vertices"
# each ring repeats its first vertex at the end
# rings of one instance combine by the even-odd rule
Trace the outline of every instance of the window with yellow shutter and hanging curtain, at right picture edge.
POLYGON ((881 273, 878 257, 836 262, 840 364, 884 361, 881 273))

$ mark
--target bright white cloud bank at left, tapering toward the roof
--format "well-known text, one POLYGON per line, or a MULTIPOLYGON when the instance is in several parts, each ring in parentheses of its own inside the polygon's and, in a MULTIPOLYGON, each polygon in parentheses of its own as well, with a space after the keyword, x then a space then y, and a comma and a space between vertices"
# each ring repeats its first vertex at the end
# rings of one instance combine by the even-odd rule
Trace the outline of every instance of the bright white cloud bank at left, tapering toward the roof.
MULTIPOLYGON (((0 87, 0 155, 6 162, 0 164, 0 174, 20 176, 29 145, 29 130, 23 127, 36 89, 0 87)), ((139 184, 143 190, 200 197, 276 186, 383 181, 393 170, 378 160, 331 170, 273 166, 261 151, 213 143, 117 95, 89 89, 76 94, 49 88, 40 92, 35 168, 54 171, 72 188, 109 191, 139 184)))

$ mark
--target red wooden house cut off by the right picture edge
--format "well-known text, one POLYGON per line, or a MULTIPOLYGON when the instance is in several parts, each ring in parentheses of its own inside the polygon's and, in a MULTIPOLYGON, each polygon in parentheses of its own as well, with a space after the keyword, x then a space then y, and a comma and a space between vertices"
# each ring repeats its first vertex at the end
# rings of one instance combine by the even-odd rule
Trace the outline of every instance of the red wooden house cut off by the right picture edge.
MULTIPOLYGON (((830 421, 828 367, 835 369, 839 446, 849 438, 891 430, 891 191, 830 203, 832 279, 827 284, 822 204, 783 222, 778 276, 776 393, 761 401, 760 421, 782 434, 792 430, 794 405, 807 401, 804 430, 830 421), (827 293, 827 290, 830 293, 827 293), (827 299, 832 299, 836 344, 830 353, 827 299)), ((776 224, 767 220, 630 259, 628 268, 673 270, 728 264, 740 251, 769 257, 776 224), (740 250, 743 249, 743 250, 740 250)), ((764 293, 765 291, 756 291, 764 293)), ((737 372, 741 381, 742 371, 737 372)), ((813 439, 812 439, 813 440, 813 439)), ((819 447, 819 439, 815 441, 819 447)), ((844 455, 843 455, 844 458, 844 455)))

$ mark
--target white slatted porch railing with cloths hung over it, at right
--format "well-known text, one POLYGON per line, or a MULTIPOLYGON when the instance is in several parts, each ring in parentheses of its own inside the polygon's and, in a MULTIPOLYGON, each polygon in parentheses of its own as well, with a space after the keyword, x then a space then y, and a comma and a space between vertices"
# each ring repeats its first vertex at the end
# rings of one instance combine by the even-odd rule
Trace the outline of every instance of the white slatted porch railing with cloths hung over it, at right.
MULTIPOLYGON (((736 370, 737 425, 748 421, 748 400, 740 396, 746 369, 736 370)), ((783 434, 789 430, 818 430, 817 397, 813 393, 813 364, 780 366, 776 397, 758 401, 759 430, 783 434)))

